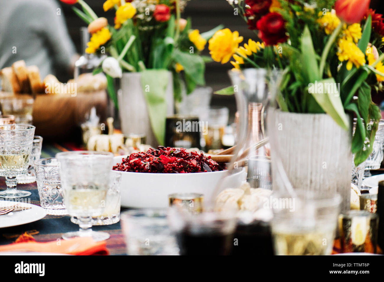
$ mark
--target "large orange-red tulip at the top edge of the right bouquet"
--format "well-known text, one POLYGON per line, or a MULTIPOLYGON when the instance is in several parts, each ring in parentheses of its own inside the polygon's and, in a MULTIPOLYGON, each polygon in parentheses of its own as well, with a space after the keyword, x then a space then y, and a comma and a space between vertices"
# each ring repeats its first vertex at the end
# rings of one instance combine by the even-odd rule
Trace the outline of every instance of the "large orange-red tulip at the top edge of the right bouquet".
POLYGON ((367 14, 371 0, 337 0, 336 15, 348 24, 360 23, 367 14))

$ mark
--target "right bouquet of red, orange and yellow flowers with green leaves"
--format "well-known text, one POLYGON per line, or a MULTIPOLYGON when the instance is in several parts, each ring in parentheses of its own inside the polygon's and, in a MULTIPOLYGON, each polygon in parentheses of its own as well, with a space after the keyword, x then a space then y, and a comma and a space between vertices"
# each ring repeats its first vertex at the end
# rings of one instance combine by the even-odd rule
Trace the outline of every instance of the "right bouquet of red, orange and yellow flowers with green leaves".
MULTIPOLYGON (((282 111, 326 113, 348 129, 346 112, 357 117, 352 152, 356 165, 373 149, 379 108, 371 91, 382 89, 382 15, 370 0, 227 0, 262 40, 219 30, 209 40, 212 59, 243 68, 283 70, 276 97, 282 111), (332 86, 332 87, 330 87, 332 86)), ((227 87, 218 94, 232 94, 227 87)))

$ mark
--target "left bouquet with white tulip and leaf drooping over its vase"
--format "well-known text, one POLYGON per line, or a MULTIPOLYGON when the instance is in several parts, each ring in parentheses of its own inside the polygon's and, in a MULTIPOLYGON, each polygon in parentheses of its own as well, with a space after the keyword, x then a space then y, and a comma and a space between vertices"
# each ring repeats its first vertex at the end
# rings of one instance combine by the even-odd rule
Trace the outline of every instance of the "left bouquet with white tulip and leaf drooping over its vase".
MULTIPOLYGON (((205 62, 211 59, 200 55, 200 52, 204 50, 207 40, 222 27, 202 34, 199 30, 192 30, 190 19, 181 18, 189 0, 106 0, 104 11, 116 10, 113 26, 106 18, 98 17, 84 0, 61 1, 81 6, 72 8, 88 24, 91 33, 86 53, 110 55, 94 73, 106 73, 108 93, 116 107, 118 101, 113 78, 121 78, 122 72, 142 72, 142 77, 151 82, 166 78, 167 71, 171 71, 176 100, 181 99, 184 84, 187 94, 197 85, 205 84, 205 62)), ((151 88, 159 87, 155 85, 151 88)), ((165 112, 152 111, 166 108, 165 93, 160 93, 160 90, 156 89, 156 95, 148 95, 146 101, 151 104, 149 116, 152 129, 158 142, 163 143, 165 112), (159 95, 162 96, 160 99, 159 95), (154 126, 154 117, 164 120, 164 125, 159 122, 158 126, 154 126)))

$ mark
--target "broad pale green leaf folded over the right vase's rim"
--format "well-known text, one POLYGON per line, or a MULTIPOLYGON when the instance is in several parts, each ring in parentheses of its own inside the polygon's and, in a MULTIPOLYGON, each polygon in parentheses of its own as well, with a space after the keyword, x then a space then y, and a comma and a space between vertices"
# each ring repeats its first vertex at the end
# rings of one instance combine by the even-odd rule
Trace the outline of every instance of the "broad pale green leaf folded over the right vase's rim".
MULTIPOLYGON (((347 115, 344 112, 343 104, 341 103, 340 94, 338 93, 337 84, 334 78, 323 79, 318 82, 323 84, 324 93, 311 93, 320 107, 329 114, 333 120, 340 125, 343 129, 348 130, 349 122, 347 115), (329 86, 329 87, 326 87, 329 86)), ((311 89, 309 89, 311 90, 311 89)))

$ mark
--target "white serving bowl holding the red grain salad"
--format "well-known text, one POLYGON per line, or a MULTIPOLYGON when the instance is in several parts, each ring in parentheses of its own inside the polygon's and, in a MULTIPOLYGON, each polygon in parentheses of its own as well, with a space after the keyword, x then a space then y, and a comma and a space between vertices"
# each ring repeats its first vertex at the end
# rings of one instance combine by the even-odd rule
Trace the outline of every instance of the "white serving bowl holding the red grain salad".
MULTIPOLYGON (((113 158, 113 165, 127 156, 113 158)), ((218 181, 227 174, 202 173, 141 173, 121 172, 121 206, 129 208, 166 208, 172 193, 200 193, 205 201, 214 197, 218 181)), ((245 169, 239 169, 228 178, 228 185, 237 187, 246 179, 245 169), (233 184, 232 184, 233 183, 233 184)))

